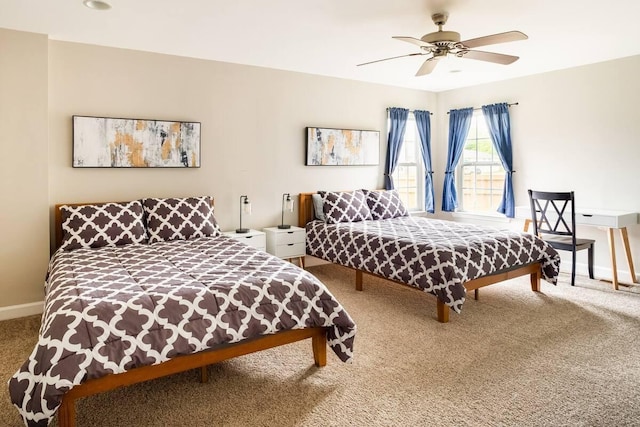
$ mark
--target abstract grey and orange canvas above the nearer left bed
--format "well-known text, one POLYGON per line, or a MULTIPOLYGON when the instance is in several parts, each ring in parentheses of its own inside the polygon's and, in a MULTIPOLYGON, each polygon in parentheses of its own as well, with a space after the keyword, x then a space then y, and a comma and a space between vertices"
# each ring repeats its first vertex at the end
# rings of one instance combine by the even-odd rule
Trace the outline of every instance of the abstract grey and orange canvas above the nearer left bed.
POLYGON ((200 123, 73 116, 74 168, 199 168, 200 123))

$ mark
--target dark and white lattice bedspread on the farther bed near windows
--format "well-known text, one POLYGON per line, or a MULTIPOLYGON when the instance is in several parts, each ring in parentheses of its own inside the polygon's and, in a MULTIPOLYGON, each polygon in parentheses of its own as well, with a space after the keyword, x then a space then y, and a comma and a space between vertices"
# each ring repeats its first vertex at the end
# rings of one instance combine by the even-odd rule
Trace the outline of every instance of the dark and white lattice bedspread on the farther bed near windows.
POLYGON ((460 312, 463 283, 536 261, 556 283, 560 257, 528 234, 423 217, 326 224, 311 221, 307 254, 434 294, 460 312))

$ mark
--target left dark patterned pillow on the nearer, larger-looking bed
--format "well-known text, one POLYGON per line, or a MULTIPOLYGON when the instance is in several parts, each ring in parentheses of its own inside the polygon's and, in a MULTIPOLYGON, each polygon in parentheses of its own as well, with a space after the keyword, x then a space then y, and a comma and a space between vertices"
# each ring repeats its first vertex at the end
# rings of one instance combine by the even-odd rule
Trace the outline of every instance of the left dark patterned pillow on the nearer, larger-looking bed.
POLYGON ((140 201, 60 206, 63 250, 145 243, 140 201))

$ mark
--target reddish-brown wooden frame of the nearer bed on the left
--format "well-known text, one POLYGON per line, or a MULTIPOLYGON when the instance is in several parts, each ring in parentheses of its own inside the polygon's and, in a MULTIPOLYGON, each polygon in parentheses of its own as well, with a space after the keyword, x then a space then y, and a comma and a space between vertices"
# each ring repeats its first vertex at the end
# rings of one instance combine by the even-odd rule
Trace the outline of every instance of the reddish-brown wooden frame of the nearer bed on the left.
MULTIPOLYGON (((66 205, 82 206, 87 204, 90 203, 69 203, 66 205)), ((56 248, 60 247, 60 244, 62 243, 62 215, 60 212, 60 206, 63 205, 55 205, 56 248)), ((62 404, 60 408, 58 408, 57 412, 58 425, 60 427, 75 426, 75 401, 81 397, 91 396, 93 394, 102 393, 119 387, 197 368, 200 369, 200 381, 207 382, 208 365, 308 338, 311 338, 311 347, 313 350, 313 360, 315 365, 317 367, 325 366, 327 364, 327 328, 316 327, 291 329, 234 344, 223 344, 198 353, 178 356, 159 365, 134 368, 127 372, 107 375, 74 386, 71 390, 65 393, 62 398, 62 404)))

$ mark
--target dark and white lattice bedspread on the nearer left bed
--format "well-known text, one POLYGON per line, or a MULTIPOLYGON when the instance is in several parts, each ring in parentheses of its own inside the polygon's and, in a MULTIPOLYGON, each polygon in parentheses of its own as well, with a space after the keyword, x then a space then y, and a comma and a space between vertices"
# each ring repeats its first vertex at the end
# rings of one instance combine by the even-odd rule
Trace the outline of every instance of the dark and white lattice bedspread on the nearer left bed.
POLYGON ((38 343, 10 379, 28 425, 47 425, 74 385, 219 344, 328 327, 353 357, 356 326, 310 273, 226 236, 58 251, 38 343))

